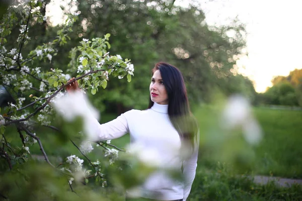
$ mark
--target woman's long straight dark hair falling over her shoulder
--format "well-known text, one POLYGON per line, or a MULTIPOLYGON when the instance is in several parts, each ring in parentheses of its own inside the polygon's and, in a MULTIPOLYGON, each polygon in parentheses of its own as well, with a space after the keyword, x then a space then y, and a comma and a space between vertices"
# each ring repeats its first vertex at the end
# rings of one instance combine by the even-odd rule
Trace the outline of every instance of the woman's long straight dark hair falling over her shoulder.
MULTIPOLYGON (((194 147, 198 125, 191 114, 187 89, 182 73, 175 66, 160 62, 152 69, 152 75, 159 70, 168 93, 168 115, 174 128, 178 131, 182 142, 189 142, 194 147)), ((148 109, 154 102, 149 97, 148 109)))

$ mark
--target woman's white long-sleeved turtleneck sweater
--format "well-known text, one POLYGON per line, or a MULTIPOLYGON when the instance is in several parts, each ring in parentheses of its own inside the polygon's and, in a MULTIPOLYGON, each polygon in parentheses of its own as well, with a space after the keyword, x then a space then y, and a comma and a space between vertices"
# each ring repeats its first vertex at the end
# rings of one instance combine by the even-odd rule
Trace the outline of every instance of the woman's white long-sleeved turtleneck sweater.
POLYGON ((151 109, 131 110, 106 124, 99 124, 96 119, 90 120, 90 124, 99 140, 111 140, 129 133, 130 145, 137 143, 159 153, 161 167, 176 168, 181 173, 183 165, 184 182, 159 170, 151 174, 139 189, 141 197, 161 200, 183 198, 186 201, 195 177, 198 145, 190 158, 182 160, 180 137, 169 119, 168 105, 154 103, 151 109))

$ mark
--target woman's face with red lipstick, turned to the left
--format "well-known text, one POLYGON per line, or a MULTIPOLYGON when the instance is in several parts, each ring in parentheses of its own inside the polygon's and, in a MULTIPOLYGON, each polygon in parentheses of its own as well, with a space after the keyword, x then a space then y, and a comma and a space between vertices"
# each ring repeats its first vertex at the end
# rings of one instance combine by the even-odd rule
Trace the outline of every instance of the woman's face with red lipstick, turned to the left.
POLYGON ((154 103, 168 105, 168 93, 160 70, 154 72, 150 83, 150 97, 154 103))

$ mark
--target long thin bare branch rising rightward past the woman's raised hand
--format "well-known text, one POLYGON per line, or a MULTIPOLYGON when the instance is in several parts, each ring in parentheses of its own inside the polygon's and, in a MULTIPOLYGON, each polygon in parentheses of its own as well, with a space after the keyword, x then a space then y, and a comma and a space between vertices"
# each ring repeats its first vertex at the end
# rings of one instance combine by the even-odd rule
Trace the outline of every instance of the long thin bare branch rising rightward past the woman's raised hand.
MULTIPOLYGON (((110 68, 109 68, 109 69, 110 69, 110 68)), ((4 126, 8 126, 8 125, 10 125, 10 124, 15 124, 15 123, 23 122, 23 121, 28 121, 28 119, 30 119, 32 116, 36 115, 40 110, 44 109, 45 106, 46 106, 47 104, 49 104, 50 100, 51 100, 58 92, 60 92, 64 87, 66 87, 67 85, 69 85, 70 83, 72 83, 72 82, 74 82, 74 81, 76 81, 76 80, 82 79, 83 77, 85 77, 85 76, 87 76, 87 75, 89 75, 89 74, 96 73, 96 72, 99 72, 99 71, 105 71, 105 69, 98 69, 98 70, 90 71, 90 72, 88 72, 88 73, 86 73, 86 74, 84 74, 84 75, 81 75, 81 76, 78 77, 78 78, 75 78, 74 80, 71 80, 71 81, 67 82, 66 84, 62 85, 58 90, 56 90, 56 91, 55 91, 55 92, 54 92, 54 93, 46 100, 46 102, 45 102, 42 106, 40 106, 39 108, 37 108, 37 110, 36 110, 35 112, 31 113, 30 115, 28 115, 28 116, 27 116, 26 118, 24 118, 24 119, 18 119, 18 120, 9 121, 9 122, 5 123, 4 126)))

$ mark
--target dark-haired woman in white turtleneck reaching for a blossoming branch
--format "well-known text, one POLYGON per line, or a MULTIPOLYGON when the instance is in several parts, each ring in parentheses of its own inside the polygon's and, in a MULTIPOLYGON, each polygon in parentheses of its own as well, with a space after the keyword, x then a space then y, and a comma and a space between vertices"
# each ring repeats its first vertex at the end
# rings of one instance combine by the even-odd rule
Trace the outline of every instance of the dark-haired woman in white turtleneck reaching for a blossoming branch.
MULTIPOLYGON (((185 201, 197 167, 198 126, 190 113, 181 72, 168 63, 157 63, 152 75, 147 110, 131 110, 102 125, 92 119, 90 126, 100 140, 130 133, 131 144, 160 153, 161 167, 177 168, 180 173, 183 169, 184 182, 176 181, 164 171, 155 171, 139 187, 141 198, 137 200, 185 201)), ((68 92, 77 89, 78 82, 66 87, 68 92)))

